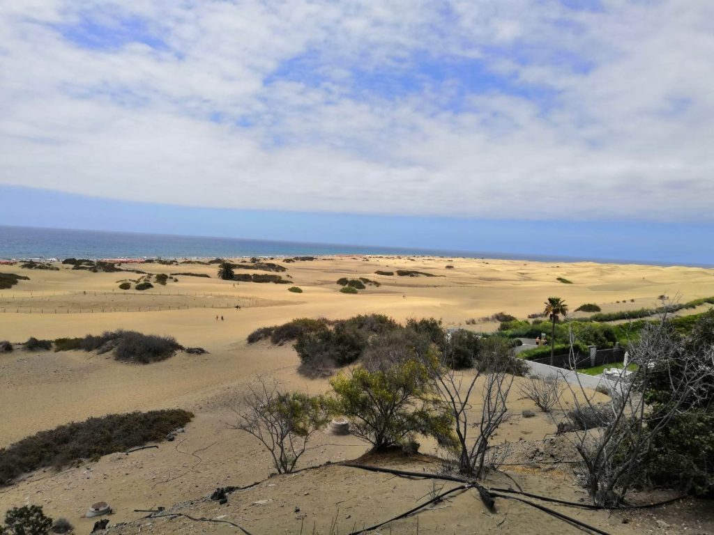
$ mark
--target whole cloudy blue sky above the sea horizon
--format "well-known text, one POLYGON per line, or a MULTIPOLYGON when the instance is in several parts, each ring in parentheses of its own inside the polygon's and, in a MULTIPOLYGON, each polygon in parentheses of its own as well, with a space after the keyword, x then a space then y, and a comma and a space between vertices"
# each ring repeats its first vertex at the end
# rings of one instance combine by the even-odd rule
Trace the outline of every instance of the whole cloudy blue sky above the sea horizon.
POLYGON ((89 203, 113 230, 714 263, 712 20, 710 0, 4 2, 0 224, 79 228, 89 203))

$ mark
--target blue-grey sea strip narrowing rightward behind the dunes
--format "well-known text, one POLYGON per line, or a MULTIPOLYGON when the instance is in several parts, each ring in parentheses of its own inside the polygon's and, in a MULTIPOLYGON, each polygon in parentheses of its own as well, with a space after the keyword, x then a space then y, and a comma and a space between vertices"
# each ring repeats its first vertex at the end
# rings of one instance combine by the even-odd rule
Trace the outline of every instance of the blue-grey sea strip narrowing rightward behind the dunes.
POLYGON ((120 233, 0 225, 0 259, 6 260, 29 258, 238 258, 340 254, 428 255, 550 262, 598 260, 595 258, 518 255, 494 252, 297 243, 249 240, 245 238, 211 238, 206 236, 120 233))

